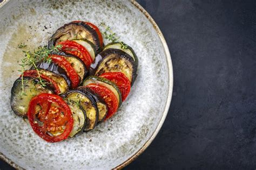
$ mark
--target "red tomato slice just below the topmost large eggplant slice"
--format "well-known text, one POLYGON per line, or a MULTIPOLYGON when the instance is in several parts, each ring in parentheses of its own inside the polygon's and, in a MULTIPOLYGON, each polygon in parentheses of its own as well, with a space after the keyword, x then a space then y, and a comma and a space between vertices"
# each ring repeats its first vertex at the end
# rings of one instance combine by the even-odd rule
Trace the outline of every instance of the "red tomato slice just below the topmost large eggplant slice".
POLYGON ((77 56, 84 62, 87 68, 90 67, 93 60, 90 53, 84 46, 72 40, 61 41, 57 45, 62 45, 63 52, 77 56))

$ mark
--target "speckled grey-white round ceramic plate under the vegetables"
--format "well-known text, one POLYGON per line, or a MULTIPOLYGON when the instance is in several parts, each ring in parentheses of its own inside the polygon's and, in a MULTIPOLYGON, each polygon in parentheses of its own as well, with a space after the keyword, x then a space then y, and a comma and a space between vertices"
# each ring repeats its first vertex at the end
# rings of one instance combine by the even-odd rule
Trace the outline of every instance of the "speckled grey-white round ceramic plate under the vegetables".
MULTIPOLYGON (((105 41, 105 44, 107 42, 105 41)), ((173 73, 169 49, 150 15, 134 1, 4 1, 0 4, 0 158, 25 169, 122 168, 156 137, 169 110, 173 73), (138 77, 116 115, 59 143, 39 138, 10 107, 18 60, 45 45, 72 20, 101 21, 138 55, 138 77)))

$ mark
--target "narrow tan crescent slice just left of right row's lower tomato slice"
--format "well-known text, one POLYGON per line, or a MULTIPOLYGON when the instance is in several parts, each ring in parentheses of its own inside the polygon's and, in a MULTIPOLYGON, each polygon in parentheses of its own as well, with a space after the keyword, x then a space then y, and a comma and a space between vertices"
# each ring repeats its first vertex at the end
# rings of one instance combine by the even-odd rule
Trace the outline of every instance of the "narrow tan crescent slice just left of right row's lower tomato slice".
POLYGON ((102 97, 100 97, 99 95, 97 95, 93 90, 91 90, 90 88, 86 88, 87 91, 89 91, 92 96, 95 98, 96 102, 97 102, 97 107, 99 110, 99 118, 98 118, 98 123, 102 122, 106 115, 107 115, 107 111, 109 109, 107 109, 107 105, 105 104, 104 100, 102 97))

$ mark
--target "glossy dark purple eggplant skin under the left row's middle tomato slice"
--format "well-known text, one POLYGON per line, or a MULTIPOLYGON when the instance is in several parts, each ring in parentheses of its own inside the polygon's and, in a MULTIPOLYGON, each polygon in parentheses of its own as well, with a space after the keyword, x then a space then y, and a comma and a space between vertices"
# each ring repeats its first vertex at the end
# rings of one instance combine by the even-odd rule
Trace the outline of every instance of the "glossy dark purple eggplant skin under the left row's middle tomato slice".
MULTIPOLYGON (((66 73, 65 69, 58 66, 56 63, 41 61, 41 62, 36 63, 36 66, 39 69, 48 70, 49 72, 52 72, 52 73, 62 76, 65 79, 66 83, 68 83, 69 88, 71 88, 72 83, 71 83, 71 80, 70 80, 68 74, 66 73)), ((35 67, 31 67, 30 69, 35 69, 35 67)))

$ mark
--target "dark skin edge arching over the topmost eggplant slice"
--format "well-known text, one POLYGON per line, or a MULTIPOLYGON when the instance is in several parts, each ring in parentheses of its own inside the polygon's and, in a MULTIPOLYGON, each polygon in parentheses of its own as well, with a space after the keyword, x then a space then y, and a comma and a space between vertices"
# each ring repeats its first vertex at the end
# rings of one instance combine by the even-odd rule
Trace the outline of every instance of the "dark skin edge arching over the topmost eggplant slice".
MULTIPOLYGON (((99 37, 98 34, 95 30, 93 30, 89 25, 87 25, 85 22, 70 22, 68 24, 65 24, 62 27, 59 27, 59 29, 52 35, 52 37, 49 39, 48 41, 48 48, 51 48, 52 46, 56 45, 56 41, 62 37, 62 33, 66 33, 67 31, 69 31, 70 29, 68 29, 68 27, 71 27, 71 29, 73 29, 74 27, 79 27, 79 29, 81 27, 83 27, 84 30, 89 31, 91 33, 91 36, 93 37, 93 41, 92 42, 95 47, 96 47, 96 52, 99 53, 102 48, 100 47, 100 41, 99 41, 99 37)), ((72 39, 77 39, 77 38, 82 38, 82 39, 86 39, 86 37, 76 37, 76 35, 71 35, 72 33, 69 33, 70 38, 68 38, 69 40, 72 39)))

